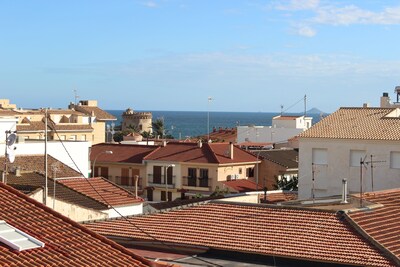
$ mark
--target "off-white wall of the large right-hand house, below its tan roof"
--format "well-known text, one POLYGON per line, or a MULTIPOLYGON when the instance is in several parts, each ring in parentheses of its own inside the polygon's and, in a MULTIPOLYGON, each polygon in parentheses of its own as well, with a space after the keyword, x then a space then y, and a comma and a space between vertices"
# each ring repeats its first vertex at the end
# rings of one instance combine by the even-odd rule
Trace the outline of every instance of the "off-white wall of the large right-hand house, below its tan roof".
MULTIPOLYGON (((379 161, 366 165, 363 170, 363 192, 400 188, 400 168, 391 168, 391 152, 400 152, 400 141, 367 141, 301 138, 299 140, 299 199, 312 196, 312 150, 327 150, 327 164, 314 165, 315 196, 340 195, 342 179, 348 181, 350 193, 360 191, 360 167, 351 166, 351 150, 364 150, 365 161, 379 161)), ((392 153, 393 154, 393 153, 392 153)), ((396 153, 394 153, 396 154, 396 153)), ((358 164, 359 165, 359 164, 358 164)))

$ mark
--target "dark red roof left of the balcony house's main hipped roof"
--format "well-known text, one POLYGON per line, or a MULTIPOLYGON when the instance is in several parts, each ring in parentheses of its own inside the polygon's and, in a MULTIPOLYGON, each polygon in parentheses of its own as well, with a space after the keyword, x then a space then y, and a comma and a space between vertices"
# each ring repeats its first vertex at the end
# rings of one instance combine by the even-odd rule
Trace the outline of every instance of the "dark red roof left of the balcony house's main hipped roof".
POLYGON ((122 162, 141 164, 143 158, 157 149, 157 146, 97 144, 92 146, 90 160, 97 162, 122 162), (102 153, 112 151, 112 154, 102 153))

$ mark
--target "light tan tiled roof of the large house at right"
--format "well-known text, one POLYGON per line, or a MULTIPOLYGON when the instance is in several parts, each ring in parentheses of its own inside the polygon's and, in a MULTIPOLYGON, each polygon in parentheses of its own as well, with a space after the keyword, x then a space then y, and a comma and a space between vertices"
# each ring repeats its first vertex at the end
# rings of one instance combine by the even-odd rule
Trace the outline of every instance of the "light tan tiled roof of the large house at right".
POLYGON ((396 108, 340 108, 319 121, 301 138, 400 140, 396 108), (392 113, 393 116, 387 116, 392 113))

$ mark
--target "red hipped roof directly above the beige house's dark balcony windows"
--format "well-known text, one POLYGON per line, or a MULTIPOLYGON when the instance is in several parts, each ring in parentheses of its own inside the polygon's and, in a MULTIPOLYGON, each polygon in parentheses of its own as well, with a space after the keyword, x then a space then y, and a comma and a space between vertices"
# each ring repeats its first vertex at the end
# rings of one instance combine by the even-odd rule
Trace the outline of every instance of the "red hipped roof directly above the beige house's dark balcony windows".
POLYGON ((237 146, 233 146, 233 159, 229 157, 230 144, 212 143, 202 144, 199 147, 196 143, 170 142, 160 147, 145 157, 145 160, 164 160, 175 162, 195 163, 242 163, 255 162, 256 157, 237 146))

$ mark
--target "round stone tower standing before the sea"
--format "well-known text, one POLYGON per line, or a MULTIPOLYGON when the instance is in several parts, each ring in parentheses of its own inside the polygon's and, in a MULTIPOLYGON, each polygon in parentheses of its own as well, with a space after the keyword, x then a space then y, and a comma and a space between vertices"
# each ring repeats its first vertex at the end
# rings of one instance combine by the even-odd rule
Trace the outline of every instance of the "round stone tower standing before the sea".
POLYGON ((122 113, 122 131, 127 130, 129 126, 133 126, 139 130, 140 133, 144 131, 152 131, 152 118, 151 112, 134 112, 133 109, 128 108, 122 113))

